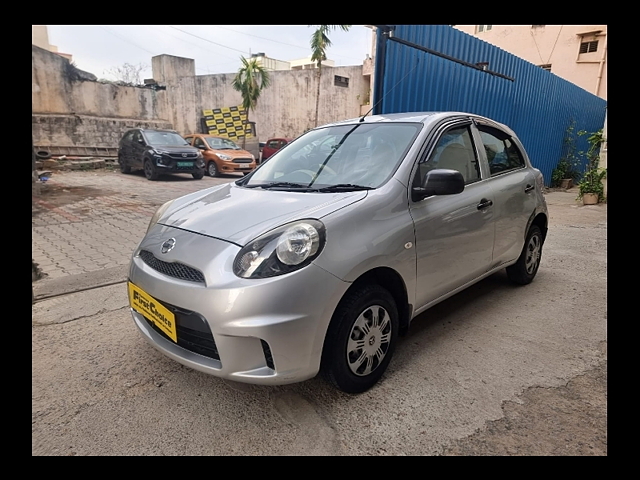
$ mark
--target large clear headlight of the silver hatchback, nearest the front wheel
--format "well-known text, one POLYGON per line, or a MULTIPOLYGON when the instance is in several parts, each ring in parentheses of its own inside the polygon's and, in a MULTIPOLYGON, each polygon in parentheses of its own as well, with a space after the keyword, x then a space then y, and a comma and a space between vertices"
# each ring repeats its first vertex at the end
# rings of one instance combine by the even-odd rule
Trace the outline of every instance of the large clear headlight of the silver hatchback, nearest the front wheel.
POLYGON ((241 278, 268 278, 309 265, 326 242, 319 220, 283 225, 249 242, 236 256, 233 272, 241 278))

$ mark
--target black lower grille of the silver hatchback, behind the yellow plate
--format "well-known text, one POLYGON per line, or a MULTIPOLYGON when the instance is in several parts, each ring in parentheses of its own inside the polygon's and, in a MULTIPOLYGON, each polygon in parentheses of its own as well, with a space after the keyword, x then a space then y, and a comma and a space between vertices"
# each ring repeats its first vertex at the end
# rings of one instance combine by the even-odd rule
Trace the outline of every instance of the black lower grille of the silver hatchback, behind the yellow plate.
MULTIPOLYGON (((178 346, 193 353, 213 358, 214 360, 220 360, 218 347, 216 346, 216 342, 211 334, 209 324, 201 315, 164 302, 160 303, 176 317, 178 346)), ((145 320, 155 332, 159 333, 162 337, 171 340, 167 334, 156 327, 152 321, 146 317, 145 320)))

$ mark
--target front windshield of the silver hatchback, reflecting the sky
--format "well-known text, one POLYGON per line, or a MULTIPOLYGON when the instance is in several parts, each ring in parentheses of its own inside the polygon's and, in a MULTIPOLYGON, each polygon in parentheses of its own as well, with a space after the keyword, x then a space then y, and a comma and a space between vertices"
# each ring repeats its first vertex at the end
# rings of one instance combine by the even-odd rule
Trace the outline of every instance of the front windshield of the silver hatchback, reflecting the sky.
POLYGON ((404 158, 418 123, 358 123, 308 132, 276 152, 242 184, 377 188, 404 158))

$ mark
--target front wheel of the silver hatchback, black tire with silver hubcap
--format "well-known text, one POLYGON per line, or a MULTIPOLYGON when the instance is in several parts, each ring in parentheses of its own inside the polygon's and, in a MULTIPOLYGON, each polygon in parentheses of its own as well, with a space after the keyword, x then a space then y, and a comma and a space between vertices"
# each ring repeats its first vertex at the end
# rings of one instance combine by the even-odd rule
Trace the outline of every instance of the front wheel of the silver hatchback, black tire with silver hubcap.
POLYGON ((371 388, 391 361, 399 325, 396 302, 385 288, 364 285, 347 293, 325 338, 325 376, 346 393, 371 388))

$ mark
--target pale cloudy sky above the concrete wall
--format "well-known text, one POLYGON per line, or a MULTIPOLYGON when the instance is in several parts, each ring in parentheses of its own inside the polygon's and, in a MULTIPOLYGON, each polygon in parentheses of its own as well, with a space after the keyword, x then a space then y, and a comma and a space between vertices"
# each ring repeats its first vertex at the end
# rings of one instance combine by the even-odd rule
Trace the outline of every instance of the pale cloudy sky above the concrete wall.
MULTIPOLYGON (((235 73, 240 57, 264 53, 278 60, 311 54, 307 25, 48 25, 49 43, 73 55, 76 66, 98 78, 115 80, 109 70, 143 64, 151 78, 151 57, 175 55, 195 60, 196 74, 235 73)), ((362 65, 371 53, 371 29, 353 25, 334 30, 327 58, 336 66, 362 65)))

